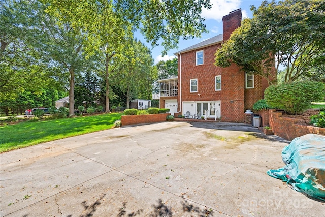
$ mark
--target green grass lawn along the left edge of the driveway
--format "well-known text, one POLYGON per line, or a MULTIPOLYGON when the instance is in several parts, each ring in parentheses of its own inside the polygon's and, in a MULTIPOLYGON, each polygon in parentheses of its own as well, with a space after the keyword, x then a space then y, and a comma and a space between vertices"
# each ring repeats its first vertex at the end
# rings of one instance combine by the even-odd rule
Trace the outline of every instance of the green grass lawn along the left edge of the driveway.
POLYGON ((23 121, 0 126, 0 153, 57 139, 110 129, 121 113, 63 118, 46 121, 23 121))

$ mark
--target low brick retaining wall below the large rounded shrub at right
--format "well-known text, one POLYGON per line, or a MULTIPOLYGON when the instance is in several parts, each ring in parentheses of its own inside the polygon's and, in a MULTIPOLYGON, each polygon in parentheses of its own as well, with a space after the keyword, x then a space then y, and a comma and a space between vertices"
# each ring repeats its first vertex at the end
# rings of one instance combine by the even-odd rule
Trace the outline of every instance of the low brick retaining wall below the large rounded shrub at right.
POLYGON ((269 112, 270 127, 277 136, 291 141, 309 133, 325 135, 325 128, 299 125, 294 118, 282 117, 281 112, 276 112, 276 110, 269 110, 269 112))

